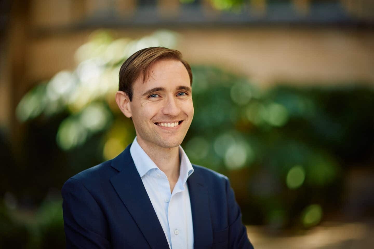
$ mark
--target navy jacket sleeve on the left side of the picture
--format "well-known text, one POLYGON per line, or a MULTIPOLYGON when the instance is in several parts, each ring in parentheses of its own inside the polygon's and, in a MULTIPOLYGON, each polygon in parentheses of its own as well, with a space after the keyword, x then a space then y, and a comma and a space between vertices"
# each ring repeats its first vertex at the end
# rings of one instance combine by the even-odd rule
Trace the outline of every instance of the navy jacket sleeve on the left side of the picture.
POLYGON ((110 248, 108 224, 96 200, 78 180, 62 187, 67 248, 110 248))

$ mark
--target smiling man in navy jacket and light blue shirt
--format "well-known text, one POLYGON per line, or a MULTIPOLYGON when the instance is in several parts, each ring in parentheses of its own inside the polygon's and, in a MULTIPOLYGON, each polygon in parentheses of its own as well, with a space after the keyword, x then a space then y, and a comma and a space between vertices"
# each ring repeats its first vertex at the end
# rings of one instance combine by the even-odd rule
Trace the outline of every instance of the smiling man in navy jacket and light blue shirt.
POLYGON ((137 136, 62 188, 67 248, 252 248, 227 177, 192 165, 192 73, 177 50, 142 49, 119 73, 116 102, 137 136))

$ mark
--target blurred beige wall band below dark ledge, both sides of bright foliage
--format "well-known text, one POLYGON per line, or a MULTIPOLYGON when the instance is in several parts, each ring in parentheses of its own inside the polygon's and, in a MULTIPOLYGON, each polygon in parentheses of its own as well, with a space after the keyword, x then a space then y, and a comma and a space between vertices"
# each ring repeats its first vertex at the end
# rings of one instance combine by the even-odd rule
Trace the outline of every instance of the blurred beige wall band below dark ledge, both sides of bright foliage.
MULTIPOLYGON (((138 38, 153 30, 124 29, 138 38)), ((353 29, 175 29, 177 49, 192 64, 212 64, 248 75, 256 84, 278 80, 303 84, 365 80, 374 83, 374 33, 353 29)), ((29 84, 74 68, 74 51, 90 31, 32 40, 26 62, 29 84)), ((29 86, 27 86, 29 87, 29 86)))

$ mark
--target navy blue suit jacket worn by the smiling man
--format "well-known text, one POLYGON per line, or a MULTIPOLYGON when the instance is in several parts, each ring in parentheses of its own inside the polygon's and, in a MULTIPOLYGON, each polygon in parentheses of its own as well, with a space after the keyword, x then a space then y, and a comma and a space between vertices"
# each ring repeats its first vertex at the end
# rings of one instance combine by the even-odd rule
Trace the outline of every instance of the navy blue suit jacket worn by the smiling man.
MULTIPOLYGON (((253 248, 227 177, 193 168, 187 184, 194 248, 253 248)), ((67 180, 62 197, 67 248, 169 248, 130 145, 67 180)))

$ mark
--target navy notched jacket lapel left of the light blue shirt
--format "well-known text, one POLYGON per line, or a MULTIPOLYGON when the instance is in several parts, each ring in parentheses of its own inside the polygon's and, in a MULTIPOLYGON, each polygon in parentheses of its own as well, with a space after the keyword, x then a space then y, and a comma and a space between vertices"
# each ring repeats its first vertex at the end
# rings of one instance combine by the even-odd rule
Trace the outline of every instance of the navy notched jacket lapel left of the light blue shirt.
POLYGON ((112 160, 111 166, 120 172, 110 181, 150 248, 169 248, 160 221, 132 160, 130 146, 131 144, 112 160))

